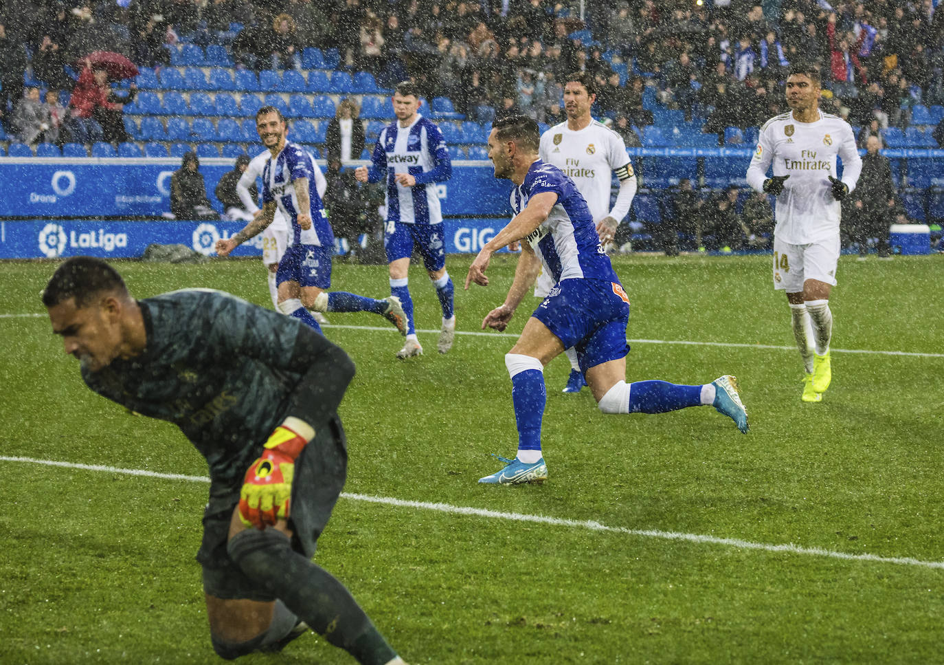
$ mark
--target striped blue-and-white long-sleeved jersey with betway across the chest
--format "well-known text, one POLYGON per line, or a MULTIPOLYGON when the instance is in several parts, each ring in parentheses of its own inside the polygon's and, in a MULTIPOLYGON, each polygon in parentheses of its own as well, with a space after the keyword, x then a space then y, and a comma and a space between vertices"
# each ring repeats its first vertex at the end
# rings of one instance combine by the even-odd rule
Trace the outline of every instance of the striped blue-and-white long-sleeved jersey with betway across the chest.
POLYGON ((380 131, 374 154, 367 169, 370 182, 386 175, 387 221, 404 224, 439 224, 443 212, 436 196, 437 182, 452 177, 452 162, 443 133, 419 113, 410 127, 399 127, 395 120, 380 131), (397 173, 409 173, 416 179, 413 187, 403 187, 394 179, 397 173))

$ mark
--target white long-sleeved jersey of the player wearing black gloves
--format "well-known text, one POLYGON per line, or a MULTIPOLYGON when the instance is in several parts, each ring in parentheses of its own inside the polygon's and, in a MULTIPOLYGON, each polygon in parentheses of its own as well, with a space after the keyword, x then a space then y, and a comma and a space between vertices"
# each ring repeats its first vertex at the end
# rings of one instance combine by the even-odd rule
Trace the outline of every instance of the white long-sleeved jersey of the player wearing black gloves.
POLYGON ((839 201, 832 194, 829 177, 836 177, 836 161, 842 160, 842 181, 851 192, 862 172, 862 160, 852 128, 845 120, 819 111, 819 119, 801 123, 793 111, 767 120, 748 167, 748 183, 764 191, 767 167, 773 175, 789 176, 777 196, 774 235, 791 245, 806 245, 839 233, 839 201))

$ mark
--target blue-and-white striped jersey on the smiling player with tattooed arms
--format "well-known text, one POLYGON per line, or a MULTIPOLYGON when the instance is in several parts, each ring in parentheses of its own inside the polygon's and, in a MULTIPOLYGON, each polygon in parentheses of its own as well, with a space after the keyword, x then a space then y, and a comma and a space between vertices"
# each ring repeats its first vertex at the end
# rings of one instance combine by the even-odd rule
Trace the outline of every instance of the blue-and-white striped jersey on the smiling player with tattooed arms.
POLYGON ((334 233, 321 196, 318 196, 318 182, 323 182, 325 175, 314 162, 314 158, 301 145, 287 142, 278 156, 265 162, 262 169, 262 205, 275 201, 278 209, 292 224, 289 245, 315 245, 329 247, 334 244, 334 233), (299 210, 298 196, 295 194, 293 180, 308 179, 310 210, 299 210), (312 228, 302 230, 298 226, 298 215, 310 213, 312 228))

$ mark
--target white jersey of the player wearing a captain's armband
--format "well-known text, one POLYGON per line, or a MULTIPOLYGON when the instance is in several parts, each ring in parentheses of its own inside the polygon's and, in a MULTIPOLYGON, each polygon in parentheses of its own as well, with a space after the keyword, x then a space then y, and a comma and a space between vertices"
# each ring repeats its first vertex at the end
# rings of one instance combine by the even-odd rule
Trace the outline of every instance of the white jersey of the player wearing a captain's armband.
POLYGON ((549 128, 541 135, 538 156, 574 181, 594 222, 610 214, 613 172, 628 166, 632 176, 622 137, 596 120, 578 131, 568 129, 566 122, 549 128))

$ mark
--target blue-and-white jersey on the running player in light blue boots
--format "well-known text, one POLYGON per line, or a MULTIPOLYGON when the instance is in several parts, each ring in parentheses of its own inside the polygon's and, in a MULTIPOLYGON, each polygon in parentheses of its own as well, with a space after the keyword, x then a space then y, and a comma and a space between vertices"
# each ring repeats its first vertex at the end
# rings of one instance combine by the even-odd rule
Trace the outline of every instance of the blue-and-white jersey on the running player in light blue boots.
POLYGON ((548 218, 526 238, 554 282, 606 280, 619 282, 610 257, 599 244, 593 215, 574 181, 557 166, 537 160, 520 187, 512 190, 512 210, 525 209, 531 196, 553 192, 557 203, 548 218))

